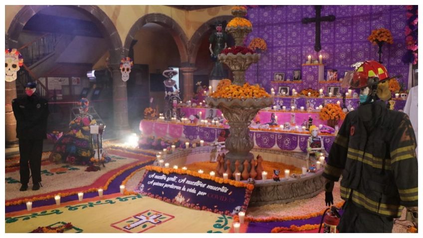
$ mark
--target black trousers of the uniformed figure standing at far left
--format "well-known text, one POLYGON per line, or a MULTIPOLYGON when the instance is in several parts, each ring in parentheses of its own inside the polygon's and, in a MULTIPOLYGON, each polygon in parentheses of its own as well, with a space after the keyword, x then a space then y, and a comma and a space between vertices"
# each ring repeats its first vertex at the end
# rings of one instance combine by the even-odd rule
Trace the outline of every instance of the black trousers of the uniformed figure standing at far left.
POLYGON ((31 169, 32 184, 41 182, 42 140, 19 139, 19 154, 20 183, 29 182, 29 169, 31 169))

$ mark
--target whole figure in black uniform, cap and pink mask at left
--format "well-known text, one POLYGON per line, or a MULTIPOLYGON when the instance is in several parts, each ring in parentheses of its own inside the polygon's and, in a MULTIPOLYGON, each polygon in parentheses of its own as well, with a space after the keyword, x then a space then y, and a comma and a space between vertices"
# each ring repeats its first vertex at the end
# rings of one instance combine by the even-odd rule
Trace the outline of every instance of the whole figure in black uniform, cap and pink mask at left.
POLYGON ((35 93, 35 82, 25 84, 27 96, 12 100, 16 118, 16 137, 19 138, 19 172, 21 187, 26 191, 29 169, 32 176, 32 190, 39 190, 41 182, 42 143, 46 139, 48 102, 35 93))

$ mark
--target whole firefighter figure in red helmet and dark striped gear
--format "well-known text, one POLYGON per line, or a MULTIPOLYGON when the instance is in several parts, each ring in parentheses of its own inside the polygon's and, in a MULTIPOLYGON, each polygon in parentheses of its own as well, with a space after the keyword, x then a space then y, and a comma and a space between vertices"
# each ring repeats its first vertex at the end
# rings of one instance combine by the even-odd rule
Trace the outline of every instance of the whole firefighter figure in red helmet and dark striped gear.
POLYGON ((333 204, 333 183, 342 175, 340 233, 391 233, 404 207, 417 226, 416 137, 407 114, 384 102, 391 98, 388 79, 382 64, 366 61, 343 80, 360 88, 361 105, 347 114, 323 173, 326 205, 333 204))

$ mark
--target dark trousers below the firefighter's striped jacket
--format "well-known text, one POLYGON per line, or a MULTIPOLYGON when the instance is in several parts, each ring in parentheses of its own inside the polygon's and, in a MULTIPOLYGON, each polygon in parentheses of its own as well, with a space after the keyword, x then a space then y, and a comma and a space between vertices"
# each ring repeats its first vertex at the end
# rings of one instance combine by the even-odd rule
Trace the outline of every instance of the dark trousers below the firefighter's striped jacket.
POLYGON ((392 233, 394 219, 378 216, 347 201, 338 225, 340 233, 392 233))

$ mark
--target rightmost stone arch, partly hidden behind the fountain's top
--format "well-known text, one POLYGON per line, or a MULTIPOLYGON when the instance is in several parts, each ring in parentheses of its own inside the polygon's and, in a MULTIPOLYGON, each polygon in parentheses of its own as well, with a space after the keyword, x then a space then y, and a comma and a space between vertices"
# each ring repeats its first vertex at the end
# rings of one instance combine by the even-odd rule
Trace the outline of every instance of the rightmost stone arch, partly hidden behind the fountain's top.
POLYGON ((233 18, 233 15, 220 15, 213 17, 212 19, 206 21, 203 23, 193 34, 193 36, 190 39, 190 43, 188 45, 188 52, 189 52, 189 62, 193 65, 196 63, 197 59, 197 53, 200 47, 201 39, 203 38, 204 34, 207 33, 210 30, 210 26, 216 21, 216 20, 226 20, 229 22, 233 18))

